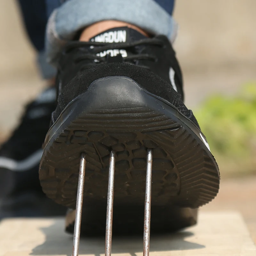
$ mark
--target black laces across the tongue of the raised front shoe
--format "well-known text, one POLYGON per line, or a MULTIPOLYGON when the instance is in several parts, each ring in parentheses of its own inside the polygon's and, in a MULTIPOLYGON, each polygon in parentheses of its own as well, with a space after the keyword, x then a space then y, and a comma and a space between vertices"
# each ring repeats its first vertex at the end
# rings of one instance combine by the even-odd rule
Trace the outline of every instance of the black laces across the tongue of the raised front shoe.
MULTIPOLYGON (((98 43, 98 42, 70 42, 66 45, 64 51, 62 54, 67 54, 68 52, 71 52, 76 49, 87 49, 84 53, 82 51, 79 51, 79 53, 75 54, 74 61, 75 63, 79 63, 82 61, 85 61, 81 67, 81 70, 90 68, 92 66, 95 66, 95 63, 97 64, 103 64, 107 63, 107 56, 100 57, 97 55, 97 53, 104 52, 107 50, 126 50, 127 52, 138 52, 138 46, 146 46, 146 45, 156 45, 159 47, 163 47, 163 42, 156 38, 146 38, 141 39, 138 41, 130 42, 130 43, 98 43), (88 62, 89 60, 89 62, 88 62), (90 61, 91 60, 91 61, 90 61)), ((123 61, 128 62, 130 64, 136 63, 138 60, 150 60, 150 61, 157 61, 157 57, 150 54, 142 54, 142 53, 135 53, 135 54, 129 54, 129 56, 124 57, 123 61)), ((142 66, 143 68, 149 68, 147 66, 142 66)))

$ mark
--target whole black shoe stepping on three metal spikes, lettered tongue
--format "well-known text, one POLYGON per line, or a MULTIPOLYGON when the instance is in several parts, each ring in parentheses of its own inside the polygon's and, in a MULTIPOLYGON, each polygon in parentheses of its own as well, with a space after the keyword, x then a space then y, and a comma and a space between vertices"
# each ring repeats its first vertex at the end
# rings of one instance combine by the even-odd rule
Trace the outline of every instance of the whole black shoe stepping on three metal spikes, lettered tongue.
POLYGON ((83 215, 88 225, 84 229, 104 233, 113 150, 113 232, 126 231, 125 223, 131 231, 143 230, 149 148, 153 153, 151 230, 195 224, 196 210, 184 213, 188 221, 182 222, 182 209, 212 201, 220 174, 195 116, 183 104, 181 71, 168 39, 114 28, 90 42, 69 43, 58 63, 58 106, 39 171, 46 195, 75 209, 84 152, 83 215), (178 219, 173 211, 180 212, 178 219))

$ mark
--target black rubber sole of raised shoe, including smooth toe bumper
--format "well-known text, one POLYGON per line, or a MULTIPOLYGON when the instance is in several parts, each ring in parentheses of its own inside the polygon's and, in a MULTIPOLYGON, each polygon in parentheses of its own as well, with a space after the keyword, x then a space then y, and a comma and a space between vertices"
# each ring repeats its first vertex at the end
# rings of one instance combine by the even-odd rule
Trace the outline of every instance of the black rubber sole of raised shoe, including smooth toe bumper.
POLYGON ((144 206, 148 148, 152 210, 197 208, 217 195, 220 173, 202 132, 172 104, 122 76, 94 81, 62 111, 46 135, 41 186, 55 202, 74 209, 84 152, 84 207, 106 205, 114 150, 114 209, 144 206))

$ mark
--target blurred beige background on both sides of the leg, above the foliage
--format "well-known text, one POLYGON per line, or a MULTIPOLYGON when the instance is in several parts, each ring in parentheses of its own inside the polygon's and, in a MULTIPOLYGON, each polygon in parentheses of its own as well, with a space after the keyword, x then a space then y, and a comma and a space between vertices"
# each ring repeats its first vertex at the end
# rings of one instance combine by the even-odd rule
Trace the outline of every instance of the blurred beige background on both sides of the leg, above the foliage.
MULTIPOLYGON (((36 0, 35 0, 36 1, 36 0)), ((174 43, 184 73, 186 104, 232 94, 256 81, 256 1, 177 0, 174 43)), ((15 0, 0 0, 0 136, 18 122, 22 106, 45 85, 35 65, 15 0)))

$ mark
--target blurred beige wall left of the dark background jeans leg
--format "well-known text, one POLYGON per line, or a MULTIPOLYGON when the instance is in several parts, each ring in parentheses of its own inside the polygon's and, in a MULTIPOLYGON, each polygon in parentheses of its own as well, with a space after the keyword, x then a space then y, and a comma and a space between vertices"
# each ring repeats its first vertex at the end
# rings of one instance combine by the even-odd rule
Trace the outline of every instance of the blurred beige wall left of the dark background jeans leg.
POLYGON ((36 72, 35 52, 24 33, 15 0, 0 0, 0 35, 1 87, 3 79, 36 72))

